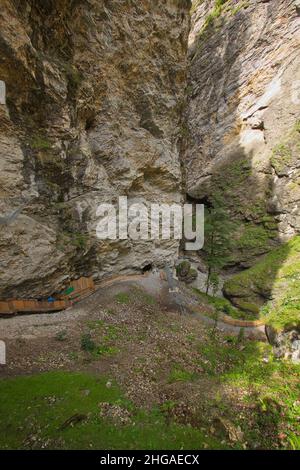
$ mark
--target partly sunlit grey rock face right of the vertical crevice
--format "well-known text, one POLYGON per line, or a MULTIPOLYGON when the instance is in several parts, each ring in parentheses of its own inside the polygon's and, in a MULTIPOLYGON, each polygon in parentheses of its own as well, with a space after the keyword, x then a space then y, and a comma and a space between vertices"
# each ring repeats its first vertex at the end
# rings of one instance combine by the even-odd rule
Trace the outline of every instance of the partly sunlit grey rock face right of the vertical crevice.
POLYGON ((299 50, 295 1, 193 2, 186 191, 221 194, 242 267, 299 233, 299 50))

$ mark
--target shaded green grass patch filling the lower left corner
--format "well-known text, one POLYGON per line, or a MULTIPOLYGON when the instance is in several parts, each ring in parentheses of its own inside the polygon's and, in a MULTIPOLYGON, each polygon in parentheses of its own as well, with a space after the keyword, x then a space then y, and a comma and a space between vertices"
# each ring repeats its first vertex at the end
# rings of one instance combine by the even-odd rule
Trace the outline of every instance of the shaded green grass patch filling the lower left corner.
POLYGON ((158 409, 135 409, 106 379, 82 373, 51 372, 0 381, 0 448, 201 449, 224 448, 189 426, 167 423, 158 409), (89 393, 85 393, 85 391, 89 393), (129 424, 100 416, 101 402, 129 410, 129 424), (62 428, 74 415, 85 419, 62 428))

